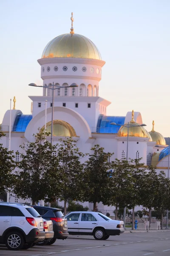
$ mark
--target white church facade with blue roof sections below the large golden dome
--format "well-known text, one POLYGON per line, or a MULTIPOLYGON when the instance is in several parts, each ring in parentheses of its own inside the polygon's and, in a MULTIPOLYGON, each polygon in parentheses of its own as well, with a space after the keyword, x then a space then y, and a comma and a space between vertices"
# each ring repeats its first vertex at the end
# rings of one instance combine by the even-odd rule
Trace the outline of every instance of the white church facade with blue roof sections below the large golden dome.
MULTIPOLYGON (((48 86, 70 86, 76 83, 76 88, 60 88, 54 91, 54 120, 67 122, 74 128, 77 146, 84 153, 90 152, 95 144, 105 148, 107 152, 114 152, 112 160, 121 159, 127 154, 127 136, 118 136, 111 122, 118 120, 119 125, 127 124, 132 119, 132 112, 127 112, 124 117, 107 117, 107 107, 111 102, 99 96, 99 81, 102 77, 102 67, 105 61, 91 58, 41 58, 38 60, 41 66, 42 85, 47 88, 40 89, 40 96, 29 96, 32 100, 32 115, 23 115, 20 110, 11 111, 11 150, 21 150, 19 146, 34 140, 38 128, 45 125, 45 100, 47 100, 47 123, 51 122, 52 90, 48 86)), ((34 92, 34 88, 32 89, 34 92)), ((118 114, 118 113, 116 113, 118 114)), ((134 112, 134 121, 142 124, 142 116, 134 112)), ((152 121, 152 120, 151 120, 152 121)), ((7 110, 3 122, 2 131, 6 137, 2 139, 3 146, 9 145, 10 111, 7 110)), ((60 136, 55 134, 54 143, 60 136)), ((149 137, 141 137, 133 134, 128 140, 128 157, 141 158, 142 163, 148 164, 154 152, 159 153, 167 145, 156 145, 149 137)), ((21 152, 21 151, 20 151, 21 152)), ((167 160, 157 163, 158 170, 167 169, 167 160)), ((16 198, 15 198, 16 200, 16 198)), ((14 198, 11 198, 14 201, 14 198)), ((88 203, 85 203, 88 205, 88 203)), ((89 204, 91 207, 91 204, 89 204)), ((91 208, 90 208, 91 209, 91 208)), ((113 207, 99 204, 99 210, 113 209, 113 207)))

